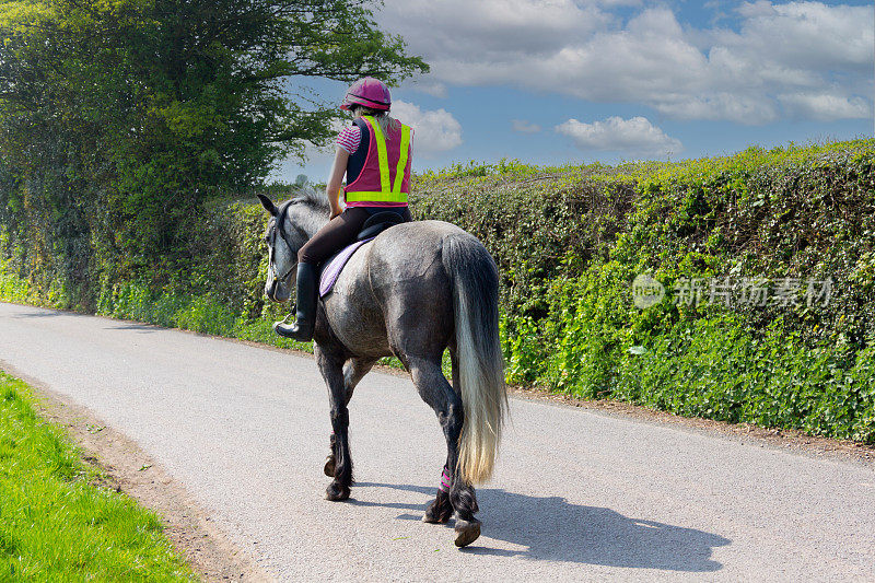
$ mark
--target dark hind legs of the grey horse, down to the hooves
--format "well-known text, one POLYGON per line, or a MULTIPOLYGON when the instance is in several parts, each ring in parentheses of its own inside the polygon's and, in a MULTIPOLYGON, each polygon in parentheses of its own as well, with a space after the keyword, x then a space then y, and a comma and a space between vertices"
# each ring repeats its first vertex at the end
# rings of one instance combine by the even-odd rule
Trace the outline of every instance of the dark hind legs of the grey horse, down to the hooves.
MULTIPOLYGON (((408 369, 413 378, 413 384, 424 400, 434 412, 444 431, 446 439, 446 465, 442 475, 442 485, 434 501, 425 510, 424 522, 443 524, 450 520, 453 512, 456 515, 457 547, 466 547, 480 536, 480 521, 474 517, 479 510, 474 488, 458 477, 456 466, 458 462, 458 438, 465 422, 462 398, 450 386, 441 372, 441 360, 408 359, 408 369), (446 485, 446 482, 450 482, 446 485), (447 488, 448 486, 448 488, 447 488)), ((455 376, 455 375, 454 375, 455 376)))

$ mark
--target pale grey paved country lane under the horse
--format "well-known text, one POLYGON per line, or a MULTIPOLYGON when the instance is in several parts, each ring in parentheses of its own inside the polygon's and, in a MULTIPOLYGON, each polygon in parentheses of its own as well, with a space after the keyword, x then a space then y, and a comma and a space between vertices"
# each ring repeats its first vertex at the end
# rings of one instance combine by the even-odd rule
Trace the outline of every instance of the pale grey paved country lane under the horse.
POLYGON ((420 522, 443 438, 407 377, 350 404, 353 500, 325 501, 312 359, 0 303, 0 368, 135 440, 280 581, 875 581, 875 469, 511 399, 483 535, 420 522))

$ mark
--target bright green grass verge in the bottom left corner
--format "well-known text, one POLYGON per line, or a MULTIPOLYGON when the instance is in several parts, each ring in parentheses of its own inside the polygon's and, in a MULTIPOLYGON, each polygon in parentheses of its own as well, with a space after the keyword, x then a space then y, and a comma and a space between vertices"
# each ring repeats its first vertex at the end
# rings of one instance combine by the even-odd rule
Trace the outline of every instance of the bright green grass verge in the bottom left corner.
POLYGON ((0 372, 0 580, 196 580, 159 517, 98 480, 0 372))

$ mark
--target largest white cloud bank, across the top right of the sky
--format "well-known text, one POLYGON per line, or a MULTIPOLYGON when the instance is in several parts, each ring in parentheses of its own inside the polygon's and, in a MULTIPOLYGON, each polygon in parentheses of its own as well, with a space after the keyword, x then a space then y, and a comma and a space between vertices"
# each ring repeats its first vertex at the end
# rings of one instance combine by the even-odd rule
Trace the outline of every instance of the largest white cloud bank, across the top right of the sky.
POLYGON ((682 26, 664 4, 628 20, 612 11, 641 3, 386 0, 378 18, 432 66, 434 83, 511 84, 743 124, 804 115, 781 95, 852 104, 835 115, 872 102, 871 7, 760 0, 736 9, 735 30, 682 26))

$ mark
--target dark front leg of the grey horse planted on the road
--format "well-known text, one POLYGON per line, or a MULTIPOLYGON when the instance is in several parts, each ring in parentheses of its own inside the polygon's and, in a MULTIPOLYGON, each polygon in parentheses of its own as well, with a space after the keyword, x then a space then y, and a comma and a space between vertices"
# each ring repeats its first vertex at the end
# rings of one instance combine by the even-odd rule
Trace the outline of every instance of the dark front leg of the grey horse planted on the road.
POLYGON ((352 486, 352 457, 349 450, 349 409, 343 381, 343 358, 318 345, 314 346, 314 353, 325 384, 328 385, 334 430, 331 435, 335 455, 334 480, 325 491, 325 498, 332 501, 347 500, 352 486))

